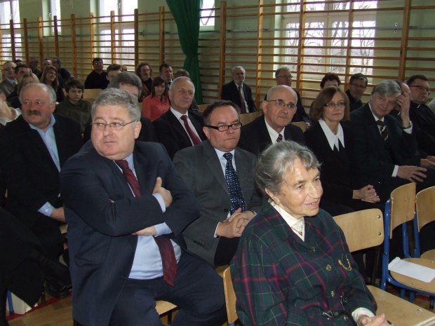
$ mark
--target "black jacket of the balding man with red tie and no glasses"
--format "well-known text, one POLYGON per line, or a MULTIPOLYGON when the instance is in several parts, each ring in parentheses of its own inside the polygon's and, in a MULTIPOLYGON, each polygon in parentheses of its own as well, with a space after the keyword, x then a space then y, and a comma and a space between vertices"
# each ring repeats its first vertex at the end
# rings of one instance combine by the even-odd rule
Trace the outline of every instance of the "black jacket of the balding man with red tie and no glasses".
MULTIPOLYGON (((187 115, 189 116, 190 121, 192 121, 199 138, 201 140, 206 140, 206 135, 204 135, 202 130, 202 113, 187 111, 187 115)), ((156 130, 157 139, 164 145, 170 158, 174 158, 175 153, 180 151, 180 149, 192 147, 192 142, 190 141, 185 128, 182 127, 180 121, 178 121, 170 109, 162 114, 160 118, 154 120, 153 124, 154 129, 156 130)))

